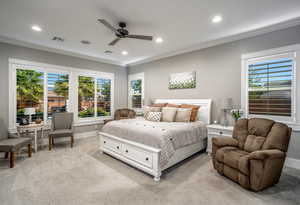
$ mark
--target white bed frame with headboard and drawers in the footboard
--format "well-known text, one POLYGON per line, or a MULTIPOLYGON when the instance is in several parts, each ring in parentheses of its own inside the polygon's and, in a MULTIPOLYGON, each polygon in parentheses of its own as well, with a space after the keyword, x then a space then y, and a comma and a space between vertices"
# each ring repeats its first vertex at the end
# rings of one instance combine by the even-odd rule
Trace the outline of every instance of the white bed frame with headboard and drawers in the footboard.
MULTIPOLYGON (((211 99, 157 99, 155 103, 192 104, 199 105, 198 120, 206 124, 211 121, 211 99)), ((160 167, 160 149, 150 147, 134 141, 99 132, 100 150, 120 159, 152 176, 155 181, 160 180, 161 172, 178 162, 192 156, 206 148, 206 139, 176 150, 168 164, 160 167)))

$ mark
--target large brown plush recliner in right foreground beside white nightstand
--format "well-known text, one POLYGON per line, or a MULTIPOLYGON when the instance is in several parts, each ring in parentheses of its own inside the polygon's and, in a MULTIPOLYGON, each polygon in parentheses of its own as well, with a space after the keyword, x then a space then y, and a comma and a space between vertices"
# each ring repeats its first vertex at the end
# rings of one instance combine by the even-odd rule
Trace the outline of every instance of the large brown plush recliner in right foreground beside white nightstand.
POLYGON ((246 189, 278 183, 292 129, 268 119, 240 119, 233 138, 212 138, 214 168, 246 189))

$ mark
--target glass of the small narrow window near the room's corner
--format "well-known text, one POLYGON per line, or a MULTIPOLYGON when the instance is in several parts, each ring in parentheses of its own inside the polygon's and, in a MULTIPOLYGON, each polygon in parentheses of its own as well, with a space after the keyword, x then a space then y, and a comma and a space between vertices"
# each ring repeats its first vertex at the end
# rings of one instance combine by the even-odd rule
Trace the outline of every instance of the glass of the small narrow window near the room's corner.
POLYGON ((132 108, 142 108, 142 80, 130 81, 130 95, 132 108))

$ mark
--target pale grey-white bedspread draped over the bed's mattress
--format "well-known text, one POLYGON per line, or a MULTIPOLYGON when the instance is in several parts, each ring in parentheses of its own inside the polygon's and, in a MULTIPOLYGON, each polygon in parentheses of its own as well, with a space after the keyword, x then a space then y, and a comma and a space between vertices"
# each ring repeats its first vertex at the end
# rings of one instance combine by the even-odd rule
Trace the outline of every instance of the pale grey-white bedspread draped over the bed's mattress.
POLYGON ((111 121, 102 131, 116 137, 161 149, 163 167, 179 148, 200 142, 207 137, 205 123, 151 122, 144 119, 111 121))

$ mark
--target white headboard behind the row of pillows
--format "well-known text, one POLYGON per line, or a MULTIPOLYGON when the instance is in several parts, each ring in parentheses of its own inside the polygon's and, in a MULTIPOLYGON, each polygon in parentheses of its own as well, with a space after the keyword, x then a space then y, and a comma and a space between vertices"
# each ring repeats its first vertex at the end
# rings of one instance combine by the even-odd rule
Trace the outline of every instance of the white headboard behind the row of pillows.
POLYGON ((211 99, 156 99, 155 103, 171 103, 171 104, 190 104, 198 105, 198 120, 204 123, 211 123, 211 99))

